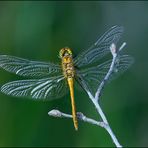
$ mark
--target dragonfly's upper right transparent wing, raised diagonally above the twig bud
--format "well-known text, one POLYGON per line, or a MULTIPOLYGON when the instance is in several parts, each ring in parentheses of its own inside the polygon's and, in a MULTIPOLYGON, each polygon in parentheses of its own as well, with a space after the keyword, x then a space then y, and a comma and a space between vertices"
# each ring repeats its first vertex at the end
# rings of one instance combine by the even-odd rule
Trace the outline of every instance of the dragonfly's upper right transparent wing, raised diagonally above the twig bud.
POLYGON ((82 67, 94 63, 110 52, 110 45, 117 44, 123 33, 123 27, 114 26, 105 32, 88 50, 80 53, 74 63, 77 67, 82 67))

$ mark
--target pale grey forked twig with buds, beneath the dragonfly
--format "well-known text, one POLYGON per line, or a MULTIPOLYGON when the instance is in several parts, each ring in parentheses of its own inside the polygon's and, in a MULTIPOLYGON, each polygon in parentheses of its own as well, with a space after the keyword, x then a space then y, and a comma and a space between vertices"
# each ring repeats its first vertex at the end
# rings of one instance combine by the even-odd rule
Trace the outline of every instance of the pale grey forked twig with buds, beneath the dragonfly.
MULTIPOLYGON (((99 99, 101 97, 101 92, 103 90, 104 85, 106 84, 106 81, 110 78, 110 76, 111 76, 111 74, 112 74, 112 72, 115 68, 115 63, 116 63, 118 53, 124 48, 125 45, 126 45, 126 43, 124 42, 120 46, 120 48, 117 50, 116 45, 114 43, 111 44, 110 51, 111 51, 111 54, 112 54, 112 62, 111 62, 111 65, 110 65, 110 68, 109 68, 107 74, 105 75, 104 79, 100 83, 100 85, 99 85, 99 87, 96 91, 95 96, 93 96, 91 94, 91 92, 86 89, 86 92, 87 92, 90 100, 94 104, 94 106, 95 106, 98 114, 100 115, 102 121, 96 121, 94 119, 86 117, 81 112, 77 112, 77 117, 78 117, 79 120, 104 128, 108 132, 108 134, 110 135, 110 137, 111 137, 111 139, 112 139, 112 141, 113 141, 113 143, 115 144, 116 147, 122 147, 122 145, 118 142, 115 134, 113 133, 113 131, 111 129, 111 127, 110 127, 110 125, 109 125, 109 123, 106 119, 106 116, 105 116, 104 112, 102 111, 102 108, 100 107, 99 99)), ((58 117, 58 118, 72 118, 72 115, 60 112, 59 110, 55 110, 55 109, 49 111, 48 115, 53 116, 53 117, 58 117)))

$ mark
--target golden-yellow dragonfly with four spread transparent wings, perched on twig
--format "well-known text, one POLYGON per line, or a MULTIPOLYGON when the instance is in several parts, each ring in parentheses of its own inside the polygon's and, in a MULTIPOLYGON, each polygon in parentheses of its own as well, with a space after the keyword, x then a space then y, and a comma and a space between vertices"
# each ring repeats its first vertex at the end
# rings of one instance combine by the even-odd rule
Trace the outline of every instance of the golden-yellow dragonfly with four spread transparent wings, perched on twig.
MULTIPOLYGON (((59 51, 61 64, 31 61, 10 55, 0 55, 0 67, 8 72, 27 77, 25 80, 11 81, 1 87, 1 92, 15 97, 28 97, 38 100, 62 98, 70 92, 72 117, 75 130, 78 130, 78 119, 74 97, 74 84, 77 82, 85 91, 95 94, 99 84, 108 72, 111 59, 99 61, 111 54, 110 46, 119 41, 123 27, 113 26, 107 30, 87 50, 73 56, 72 49, 64 47, 59 51), (94 64, 94 65, 93 65, 94 64)), ((132 64, 129 55, 120 55, 115 63, 116 70, 111 79, 126 71, 132 64)))

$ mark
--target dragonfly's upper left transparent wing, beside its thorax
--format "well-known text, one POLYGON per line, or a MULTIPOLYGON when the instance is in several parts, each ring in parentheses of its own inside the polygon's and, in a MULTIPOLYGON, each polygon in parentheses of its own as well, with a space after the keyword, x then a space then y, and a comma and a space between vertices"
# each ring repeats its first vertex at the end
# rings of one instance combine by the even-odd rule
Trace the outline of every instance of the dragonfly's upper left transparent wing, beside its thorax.
POLYGON ((8 55, 0 55, 0 67, 8 72, 28 77, 51 76, 61 72, 61 67, 56 64, 29 61, 8 55))

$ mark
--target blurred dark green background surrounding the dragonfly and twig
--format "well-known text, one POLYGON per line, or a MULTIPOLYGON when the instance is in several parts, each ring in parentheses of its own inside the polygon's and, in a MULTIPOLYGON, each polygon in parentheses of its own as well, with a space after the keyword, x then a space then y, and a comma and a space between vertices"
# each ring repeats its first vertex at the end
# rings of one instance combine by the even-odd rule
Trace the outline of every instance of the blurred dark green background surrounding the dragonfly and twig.
MULTIPOLYGON (((148 146, 148 2, 0 2, 0 54, 58 63, 59 49, 87 49, 111 26, 124 26, 120 43, 134 65, 104 90, 101 106, 120 143, 148 146)), ((0 70, 0 84, 22 79, 0 70)), ((98 118, 86 94, 76 90, 77 110, 98 118)), ((0 146, 114 146, 108 133, 72 120, 48 116, 70 113, 69 95, 42 102, 0 93, 0 146)))

